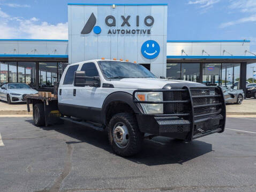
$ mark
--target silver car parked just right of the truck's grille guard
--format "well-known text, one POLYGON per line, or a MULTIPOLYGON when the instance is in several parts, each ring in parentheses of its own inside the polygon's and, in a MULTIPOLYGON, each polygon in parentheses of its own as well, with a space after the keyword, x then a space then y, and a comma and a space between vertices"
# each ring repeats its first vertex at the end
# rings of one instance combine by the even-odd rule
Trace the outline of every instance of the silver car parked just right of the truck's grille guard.
POLYGON ((228 87, 222 87, 226 103, 236 103, 241 105, 244 100, 244 91, 243 90, 234 90, 228 87))

